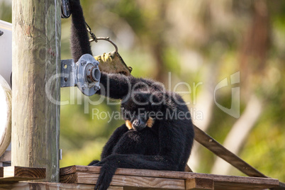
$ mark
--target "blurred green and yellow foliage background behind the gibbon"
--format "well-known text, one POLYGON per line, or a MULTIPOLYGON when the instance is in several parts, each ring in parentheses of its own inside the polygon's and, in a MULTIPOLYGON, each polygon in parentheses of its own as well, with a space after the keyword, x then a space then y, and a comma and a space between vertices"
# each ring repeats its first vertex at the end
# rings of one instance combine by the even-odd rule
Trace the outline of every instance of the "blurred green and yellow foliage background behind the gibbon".
MULTIPOLYGON (((203 82, 197 88, 199 97, 205 86, 213 90, 222 79, 240 71, 241 114, 250 94, 262 102, 262 114, 242 144, 239 156, 267 176, 285 181, 285 1, 262 2, 265 3, 262 10, 269 18, 270 43, 263 47, 264 63, 249 61, 247 65, 242 65, 241 57, 247 56, 242 49, 250 46, 247 43, 252 38, 246 36, 254 24, 259 1, 86 0, 82 6, 93 32, 96 36, 110 36, 116 42, 127 65, 133 67, 135 77, 157 79, 168 89, 171 72, 171 89, 177 82, 203 82)), ((7 8, 11 5, 3 2, 0 5, 0 19, 11 21, 11 8, 7 8)), ((71 58, 69 28, 70 18, 62 19, 62 59, 71 58)), ((113 51, 113 47, 92 43, 92 50, 99 55, 113 51)), ((62 101, 69 103, 61 106, 60 166, 89 164, 99 159, 109 136, 124 121, 109 121, 110 118, 100 118, 98 114, 119 111, 119 106, 108 105, 107 99, 99 105, 89 104, 101 97, 84 97, 74 88, 62 89, 61 96, 62 101)), ((230 108, 230 88, 217 96, 221 105, 230 108)), ((188 95, 183 97, 193 100, 188 95)), ((210 113, 207 133, 223 143, 238 119, 215 104, 210 113)), ((196 154, 200 155, 200 163, 195 172, 211 172, 216 156, 203 147, 196 154)), ((231 174, 240 172, 233 170, 231 174)))

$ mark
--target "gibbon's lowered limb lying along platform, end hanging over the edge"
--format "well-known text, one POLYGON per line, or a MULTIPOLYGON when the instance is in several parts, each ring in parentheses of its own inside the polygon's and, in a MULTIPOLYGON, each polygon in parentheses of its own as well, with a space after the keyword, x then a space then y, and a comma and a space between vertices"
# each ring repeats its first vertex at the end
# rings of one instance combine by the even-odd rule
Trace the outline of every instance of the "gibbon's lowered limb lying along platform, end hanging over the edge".
POLYGON ((160 129, 159 155, 113 154, 95 164, 101 166, 95 189, 107 189, 118 167, 171 171, 178 171, 179 168, 182 168, 181 164, 185 167, 186 163, 181 162, 184 154, 184 144, 181 144, 181 135, 179 135, 181 132, 174 129, 176 126, 172 124, 166 124, 160 129))

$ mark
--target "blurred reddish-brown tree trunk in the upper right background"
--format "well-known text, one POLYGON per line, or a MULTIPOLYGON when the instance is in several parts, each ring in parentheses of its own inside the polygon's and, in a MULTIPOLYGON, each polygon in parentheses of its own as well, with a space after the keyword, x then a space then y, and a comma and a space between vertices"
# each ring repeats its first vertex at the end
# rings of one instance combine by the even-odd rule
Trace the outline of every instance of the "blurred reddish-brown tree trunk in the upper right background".
POLYGON ((253 1, 253 21, 245 35, 240 52, 241 92, 243 97, 249 97, 252 84, 259 85, 263 78, 267 51, 270 45, 269 12, 265 0, 253 1), (252 79, 255 80, 252 83, 252 79), (252 84, 251 84, 252 83, 252 84))

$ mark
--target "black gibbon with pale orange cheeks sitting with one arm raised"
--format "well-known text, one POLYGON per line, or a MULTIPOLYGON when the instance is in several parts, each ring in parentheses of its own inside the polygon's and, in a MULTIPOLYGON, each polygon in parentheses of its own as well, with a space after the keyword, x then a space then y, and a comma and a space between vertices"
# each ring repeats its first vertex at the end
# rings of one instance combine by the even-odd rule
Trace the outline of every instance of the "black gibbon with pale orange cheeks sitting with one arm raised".
MULTIPOLYGON (((71 1, 71 11, 72 57, 78 60, 91 49, 79 0, 71 1)), ((121 99, 125 123, 104 146, 101 161, 89 164, 101 166, 95 189, 107 189, 118 167, 184 171, 194 129, 181 96, 165 91, 158 82, 123 74, 101 72, 100 83, 97 94, 121 99)))

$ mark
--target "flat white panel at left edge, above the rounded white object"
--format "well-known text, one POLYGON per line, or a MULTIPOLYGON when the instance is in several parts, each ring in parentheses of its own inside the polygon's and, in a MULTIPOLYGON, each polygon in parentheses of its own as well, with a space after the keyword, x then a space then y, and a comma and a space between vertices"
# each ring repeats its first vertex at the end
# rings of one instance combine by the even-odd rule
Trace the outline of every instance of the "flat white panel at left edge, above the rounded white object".
POLYGON ((12 24, 0 21, 0 74, 11 86, 12 73, 12 24))

